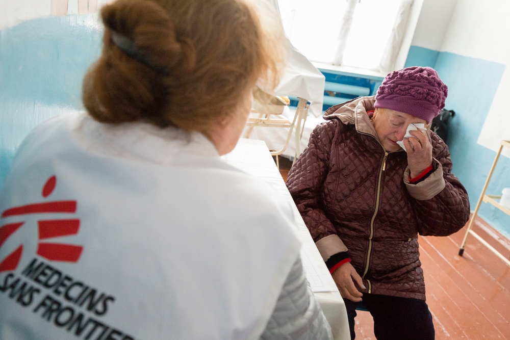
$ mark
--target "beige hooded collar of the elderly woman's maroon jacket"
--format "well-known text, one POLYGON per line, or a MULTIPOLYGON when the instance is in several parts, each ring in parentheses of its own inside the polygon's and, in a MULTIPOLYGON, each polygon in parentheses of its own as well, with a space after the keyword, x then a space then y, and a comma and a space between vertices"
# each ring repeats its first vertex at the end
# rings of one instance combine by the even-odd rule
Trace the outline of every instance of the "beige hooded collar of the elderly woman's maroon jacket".
POLYGON ((362 134, 374 136, 377 141, 377 133, 370 121, 367 111, 374 110, 375 96, 358 97, 344 103, 330 107, 324 112, 324 119, 339 119, 342 123, 355 124, 356 131, 362 134))

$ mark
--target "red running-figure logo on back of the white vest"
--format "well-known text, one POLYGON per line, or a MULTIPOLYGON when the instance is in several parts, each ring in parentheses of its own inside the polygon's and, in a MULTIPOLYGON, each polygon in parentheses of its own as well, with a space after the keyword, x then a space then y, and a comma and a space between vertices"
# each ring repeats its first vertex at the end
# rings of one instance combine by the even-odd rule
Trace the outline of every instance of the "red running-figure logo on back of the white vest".
MULTIPOLYGON (((42 197, 47 198, 57 185, 57 177, 49 177, 42 188, 42 197)), ((23 216, 29 214, 55 214, 76 212, 77 201, 45 201, 28 205, 15 206, 2 212, 2 218, 16 217, 19 221, 0 226, 0 249, 4 242, 21 228, 25 222, 23 216)), ((44 215, 43 215, 44 216, 44 215)), ((37 243, 37 254, 52 261, 77 262, 82 254, 83 247, 71 244, 50 243, 47 239, 70 236, 78 233, 80 228, 79 219, 41 219, 37 221, 39 231, 39 242, 37 243)), ((5 258, 0 258, 0 273, 15 270, 23 254, 23 245, 5 258)))

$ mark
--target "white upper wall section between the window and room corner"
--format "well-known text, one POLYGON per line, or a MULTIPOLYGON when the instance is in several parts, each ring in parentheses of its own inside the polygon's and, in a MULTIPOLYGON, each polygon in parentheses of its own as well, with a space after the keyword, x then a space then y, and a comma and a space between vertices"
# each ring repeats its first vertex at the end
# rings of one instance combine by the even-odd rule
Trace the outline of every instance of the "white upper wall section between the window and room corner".
POLYGON ((456 3, 457 0, 424 0, 411 45, 439 51, 456 3))

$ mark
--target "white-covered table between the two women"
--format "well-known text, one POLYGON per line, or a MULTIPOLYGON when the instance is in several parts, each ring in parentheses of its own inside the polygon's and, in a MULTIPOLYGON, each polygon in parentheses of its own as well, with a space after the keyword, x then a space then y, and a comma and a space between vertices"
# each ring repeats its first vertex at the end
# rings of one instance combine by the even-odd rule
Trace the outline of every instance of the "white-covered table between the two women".
MULTIPOLYGON (((240 139, 236 148, 222 158, 232 166, 235 166, 253 176, 256 176, 276 190, 282 198, 290 203, 294 209, 295 223, 301 237, 303 248, 311 257, 314 267, 320 271, 321 277, 326 281, 329 291, 314 292, 315 298, 320 303, 324 316, 326 317, 335 340, 349 340, 349 323, 345 304, 340 296, 335 281, 329 274, 319 250, 315 246, 307 226, 299 214, 294 200, 285 185, 282 175, 279 173, 269 149, 264 141, 252 139, 240 139)), ((303 252, 301 252, 303 253, 303 252)), ((309 280, 310 281, 310 280, 309 280)))

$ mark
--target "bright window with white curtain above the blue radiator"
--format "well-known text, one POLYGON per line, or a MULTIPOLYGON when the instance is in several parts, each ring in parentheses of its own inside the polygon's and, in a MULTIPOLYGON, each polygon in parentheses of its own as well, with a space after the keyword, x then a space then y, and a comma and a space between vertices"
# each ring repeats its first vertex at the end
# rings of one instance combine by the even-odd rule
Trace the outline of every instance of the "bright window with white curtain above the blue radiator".
POLYGON ((393 71, 413 0, 278 0, 285 32, 310 60, 393 71))

